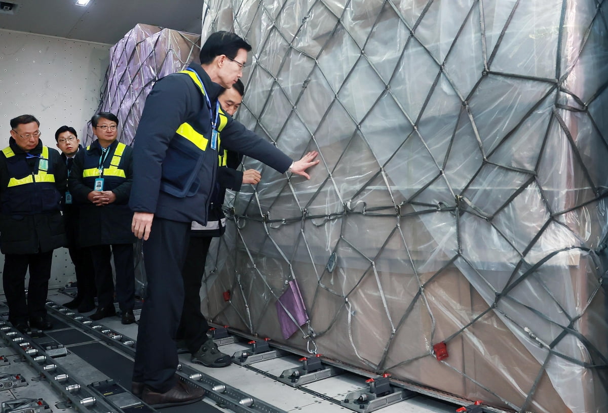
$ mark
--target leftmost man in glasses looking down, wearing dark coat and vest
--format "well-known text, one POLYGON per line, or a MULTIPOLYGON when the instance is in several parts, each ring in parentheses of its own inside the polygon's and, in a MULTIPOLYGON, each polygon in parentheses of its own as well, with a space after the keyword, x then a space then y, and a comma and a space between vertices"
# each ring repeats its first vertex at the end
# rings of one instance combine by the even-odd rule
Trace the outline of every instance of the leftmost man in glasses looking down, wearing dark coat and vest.
POLYGON ((53 250, 66 244, 60 211, 66 165, 57 150, 43 146, 33 115, 11 119, 10 127, 9 146, 0 155, 0 250, 9 321, 21 332, 49 330, 44 305, 53 250))

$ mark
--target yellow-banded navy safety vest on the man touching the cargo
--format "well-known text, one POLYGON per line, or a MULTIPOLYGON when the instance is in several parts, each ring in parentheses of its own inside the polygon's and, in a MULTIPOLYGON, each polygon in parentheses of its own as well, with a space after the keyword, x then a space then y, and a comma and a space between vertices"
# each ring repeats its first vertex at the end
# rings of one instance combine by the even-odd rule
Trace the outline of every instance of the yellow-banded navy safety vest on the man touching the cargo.
MULTIPOLYGON (((192 70, 182 70, 181 73, 188 76, 196 85, 205 98, 205 89, 201 80, 192 70)), ((215 108, 214 108, 215 109, 215 108)), ((203 111, 209 111, 204 106, 203 111)), ((209 130, 209 120, 206 117, 196 117, 185 121, 175 131, 175 137, 171 139, 166 157, 162 166, 161 190, 176 197, 193 196, 198 191, 198 171, 206 159, 206 152, 213 152, 218 156, 220 145, 220 132, 228 123, 228 117, 219 108, 216 122, 215 137, 206 136, 204 131, 209 130), (205 119, 204 123, 202 120, 205 119), (215 138, 215 142, 213 142, 215 138)))

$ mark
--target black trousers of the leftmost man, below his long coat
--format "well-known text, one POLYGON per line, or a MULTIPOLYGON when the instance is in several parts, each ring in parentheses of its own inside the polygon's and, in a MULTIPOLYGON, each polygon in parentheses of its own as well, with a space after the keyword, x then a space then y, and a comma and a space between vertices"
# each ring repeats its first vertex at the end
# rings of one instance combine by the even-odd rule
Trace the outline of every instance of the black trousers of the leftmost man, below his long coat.
POLYGON ((27 323, 28 318, 45 317, 46 296, 49 292, 50 265, 53 251, 37 254, 5 254, 2 285, 9 305, 9 321, 13 324, 27 323), (30 282, 25 281, 27 268, 30 282))

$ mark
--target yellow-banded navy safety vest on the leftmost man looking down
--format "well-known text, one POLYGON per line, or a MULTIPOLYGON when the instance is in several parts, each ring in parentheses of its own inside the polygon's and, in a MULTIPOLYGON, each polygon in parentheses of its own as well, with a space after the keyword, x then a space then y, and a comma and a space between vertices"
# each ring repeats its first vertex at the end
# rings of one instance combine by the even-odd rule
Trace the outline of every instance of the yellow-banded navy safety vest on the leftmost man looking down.
POLYGON ((32 215, 60 210, 61 194, 55 185, 47 146, 42 147, 40 155, 32 155, 33 165, 26 160, 29 155, 15 154, 10 146, 2 149, 2 153, 9 172, 9 182, 0 196, 3 214, 32 215))

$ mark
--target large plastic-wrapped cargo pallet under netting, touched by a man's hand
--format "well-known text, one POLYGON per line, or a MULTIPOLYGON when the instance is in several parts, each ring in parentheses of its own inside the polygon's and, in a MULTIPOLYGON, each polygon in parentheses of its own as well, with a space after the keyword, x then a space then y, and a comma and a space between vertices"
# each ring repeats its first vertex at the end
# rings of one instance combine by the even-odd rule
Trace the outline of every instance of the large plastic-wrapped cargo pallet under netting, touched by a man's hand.
POLYGON ((238 120, 322 162, 244 161, 204 312, 500 408, 608 411, 607 2, 205 5, 202 38, 253 47, 238 120))

